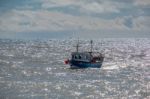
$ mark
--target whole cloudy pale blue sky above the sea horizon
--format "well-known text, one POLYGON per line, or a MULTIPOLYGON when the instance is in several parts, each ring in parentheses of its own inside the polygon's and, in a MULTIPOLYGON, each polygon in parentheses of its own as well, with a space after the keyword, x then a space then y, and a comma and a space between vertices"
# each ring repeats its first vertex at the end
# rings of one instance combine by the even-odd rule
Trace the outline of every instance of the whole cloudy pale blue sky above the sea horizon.
POLYGON ((150 0, 0 0, 0 38, 150 38, 150 0))

